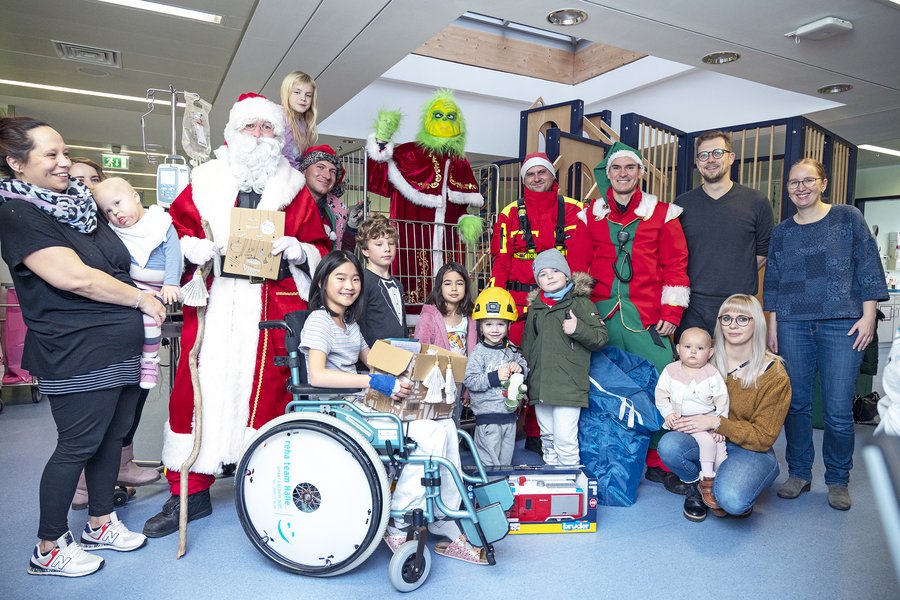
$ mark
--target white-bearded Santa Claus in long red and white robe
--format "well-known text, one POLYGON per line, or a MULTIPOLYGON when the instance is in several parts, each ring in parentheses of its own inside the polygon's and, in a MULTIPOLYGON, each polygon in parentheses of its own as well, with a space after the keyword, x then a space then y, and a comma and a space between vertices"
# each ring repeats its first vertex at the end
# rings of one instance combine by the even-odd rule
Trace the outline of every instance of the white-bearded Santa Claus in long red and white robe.
MULTIPOLYGON (((203 396, 203 437, 200 453, 188 476, 191 519, 211 512, 208 489, 217 470, 238 461, 244 441, 254 430, 284 414, 290 401, 285 388, 288 372, 272 363, 273 356, 285 353, 283 336, 272 335, 269 330, 260 331, 258 323, 282 319, 288 312, 307 307, 311 274, 321 256, 330 249, 315 203, 309 195, 301 195, 303 175, 291 168, 280 154, 283 135, 280 107, 262 96, 242 95, 229 115, 225 129, 227 145, 216 151, 215 160, 194 169, 190 185, 171 206, 182 253, 195 264, 205 263, 207 257, 228 246, 234 206, 249 202, 251 208, 285 214, 286 237, 275 244, 275 250, 282 254, 282 266, 287 264, 279 273, 280 279, 251 280, 223 274, 207 281, 206 327, 197 361, 203 396), (242 133, 248 125, 264 127, 265 123, 271 124, 274 130, 274 139, 265 143, 274 148, 275 154, 266 156, 266 164, 254 171, 257 175, 248 182, 244 175, 249 171, 242 170, 246 165, 240 164, 236 148, 254 144, 242 133), (202 221, 209 224, 212 240, 207 239, 202 221), (201 494, 203 498, 195 498, 201 494)), ((263 137, 258 140, 260 145, 263 137)), ((192 271, 189 269, 185 274, 186 280, 192 271)), ((196 336, 197 311, 185 306, 182 353, 169 399, 162 451, 173 496, 163 512, 145 525, 145 531, 149 528, 148 535, 153 537, 174 533, 169 531, 173 510, 177 523, 177 506, 170 506, 170 502, 174 499, 177 505, 178 471, 194 443, 194 390, 188 354, 196 336), (171 509, 168 514, 167 509, 171 509), (160 524, 160 518, 165 523, 160 524), (154 519, 159 526, 152 526, 154 519)))

